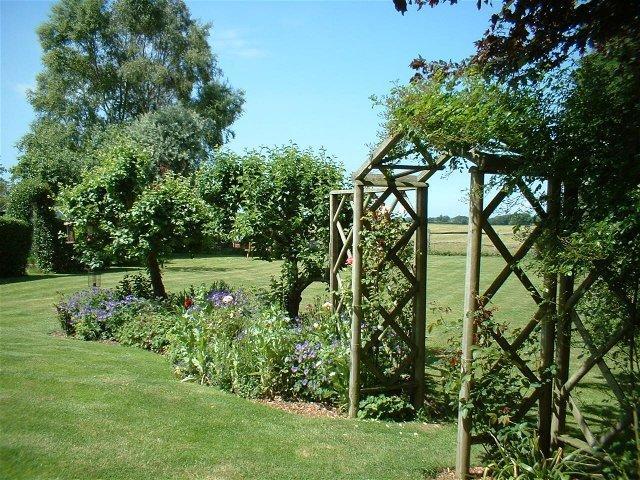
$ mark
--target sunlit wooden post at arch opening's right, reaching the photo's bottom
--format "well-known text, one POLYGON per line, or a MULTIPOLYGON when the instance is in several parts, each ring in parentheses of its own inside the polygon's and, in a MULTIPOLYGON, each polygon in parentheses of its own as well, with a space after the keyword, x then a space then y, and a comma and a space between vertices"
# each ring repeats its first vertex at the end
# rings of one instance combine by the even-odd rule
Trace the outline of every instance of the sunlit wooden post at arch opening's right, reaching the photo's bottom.
POLYGON ((467 234, 467 268, 465 276, 464 318, 462 327, 461 367, 463 381, 458 405, 458 447, 456 452, 456 478, 469 474, 471 455, 471 415, 463 407, 471 394, 472 350, 476 333, 474 314, 478 309, 480 293, 480 255, 482 253, 482 208, 484 199, 484 173, 477 167, 470 169, 469 232, 467 234))

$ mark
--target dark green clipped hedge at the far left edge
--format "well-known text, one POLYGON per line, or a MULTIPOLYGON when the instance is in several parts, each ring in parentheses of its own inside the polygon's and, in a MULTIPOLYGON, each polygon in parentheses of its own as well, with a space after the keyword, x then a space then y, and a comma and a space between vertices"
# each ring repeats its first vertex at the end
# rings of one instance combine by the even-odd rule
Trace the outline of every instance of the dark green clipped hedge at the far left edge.
POLYGON ((11 217, 0 217, 0 277, 24 275, 31 249, 31 226, 11 217))

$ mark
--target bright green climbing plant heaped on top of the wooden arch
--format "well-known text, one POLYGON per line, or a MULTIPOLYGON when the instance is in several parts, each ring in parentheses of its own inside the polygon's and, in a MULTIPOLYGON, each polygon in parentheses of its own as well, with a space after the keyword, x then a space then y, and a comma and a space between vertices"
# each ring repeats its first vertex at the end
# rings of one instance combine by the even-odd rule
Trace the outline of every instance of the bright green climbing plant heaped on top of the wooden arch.
POLYGON ((538 92, 508 88, 473 68, 434 68, 426 79, 396 87, 380 102, 389 131, 454 155, 505 148, 532 157, 543 153, 550 131, 538 92))

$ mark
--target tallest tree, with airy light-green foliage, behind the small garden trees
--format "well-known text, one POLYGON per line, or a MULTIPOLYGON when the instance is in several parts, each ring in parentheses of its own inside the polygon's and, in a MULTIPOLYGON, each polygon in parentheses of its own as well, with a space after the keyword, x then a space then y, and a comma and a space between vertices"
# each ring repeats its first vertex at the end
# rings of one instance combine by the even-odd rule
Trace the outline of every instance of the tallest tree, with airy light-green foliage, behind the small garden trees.
POLYGON ((60 262, 68 249, 58 238, 62 222, 53 202, 95 166, 101 158, 95 152, 111 130, 133 123, 131 136, 153 152, 154 165, 178 174, 232 135, 243 95, 222 79, 209 28, 191 18, 182 0, 61 0, 53 6, 38 29, 44 70, 29 93, 37 119, 19 142, 12 169, 24 182, 16 192, 38 185, 14 203, 46 199, 31 205, 35 213, 28 215, 42 268, 69 263, 60 262), (134 122, 138 117, 143 120, 134 122))

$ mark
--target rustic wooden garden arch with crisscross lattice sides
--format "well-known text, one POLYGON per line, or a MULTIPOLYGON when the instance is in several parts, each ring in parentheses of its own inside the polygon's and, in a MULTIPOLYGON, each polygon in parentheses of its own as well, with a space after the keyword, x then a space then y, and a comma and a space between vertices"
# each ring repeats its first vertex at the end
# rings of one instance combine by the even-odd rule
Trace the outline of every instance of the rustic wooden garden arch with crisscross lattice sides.
MULTIPOLYGON (((540 291, 520 266, 544 231, 556 228, 556 219, 564 204, 563 184, 554 178, 540 176, 546 181, 546 200, 540 202, 523 178, 514 175, 519 157, 508 152, 469 151, 462 154, 436 152, 424 145, 419 139, 396 134, 387 138, 353 175, 353 190, 336 190, 330 198, 330 291, 334 311, 341 311, 338 292, 341 288, 340 270, 345 260, 352 257, 352 305, 351 307, 351 366, 349 378, 349 416, 355 417, 361 395, 376 392, 404 391, 411 395, 416 407, 424 402, 425 395, 425 326, 427 315, 427 190, 428 180, 442 170, 453 159, 464 158, 473 166, 470 168, 469 189, 469 226, 467 235, 467 263, 465 276, 464 317, 462 326, 461 369, 463 382, 460 390, 460 404, 471 398, 473 389, 472 350, 477 330, 474 313, 482 308, 514 275, 526 288, 536 311, 532 318, 520 329, 518 334, 507 339, 505 332, 492 331, 491 336, 503 351, 503 361, 497 362, 495 369, 516 368, 532 385, 520 405, 514 405, 512 421, 525 416, 537 415, 539 447, 548 453, 552 446, 568 444, 573 447, 597 454, 606 447, 615 436, 626 428, 633 419, 628 399, 607 366, 604 357, 624 338, 627 327, 633 321, 633 312, 637 306, 628 298, 623 289, 611 280, 606 265, 594 263, 593 270, 582 281, 574 285, 570 276, 545 274, 543 288, 540 291), (502 189, 485 205, 485 175, 504 175, 502 189), (489 217, 502 202, 515 193, 519 193, 535 210, 537 223, 528 232, 517 251, 511 252, 494 228, 489 217), (383 326, 380 334, 373 335, 365 345, 361 345, 363 312, 362 302, 376 292, 363 289, 363 264, 361 231, 363 216, 367 210, 375 211, 385 202, 391 202, 390 209, 402 205, 408 214, 408 228, 395 245, 389 246, 383 261, 393 262, 410 285, 409 289, 397 299, 390 311, 381 309, 383 326), (345 221, 344 211, 351 206, 353 218, 351 225, 345 221), (489 286, 480 288, 482 266, 482 233, 496 247, 505 261, 504 268, 495 276, 489 286), (398 251, 413 242, 413 262, 406 265, 397 255, 398 251), (607 283, 610 290, 628 309, 629 319, 619 329, 612 332, 604 345, 597 345, 585 328, 577 312, 577 304, 588 289, 598 280, 607 283), (411 304, 409 303, 411 302, 411 304), (400 311, 412 305, 411 331, 405 331, 396 321, 400 311), (585 350, 589 353, 580 365, 570 365, 572 331, 577 331, 585 350), (398 371, 383 375, 375 371, 374 344, 386 332, 393 332, 404 339, 408 355, 401 362, 398 371), (539 346, 538 367, 532 367, 522 358, 521 347, 533 338, 539 346), (552 367, 555 364, 555 373, 552 367), (572 368, 570 368, 570 366, 572 368), (361 369, 368 368, 374 373, 376 385, 363 386, 361 369), (584 415, 573 401, 572 392, 594 367, 598 367, 608 387, 620 403, 624 414, 614 427, 597 437, 587 425, 584 415), (537 407, 537 408, 536 408, 537 407), (535 410, 534 410, 535 409, 535 410), (566 431, 566 412, 570 411, 581 432, 580 437, 571 437, 566 431)), ((371 328, 371 325, 364 325, 371 328)), ((464 415, 460 409, 458 416, 458 437, 456 456, 456 475, 465 478, 469 471, 471 445, 487 443, 491 437, 487 432, 472 433, 473 416, 464 415)))

